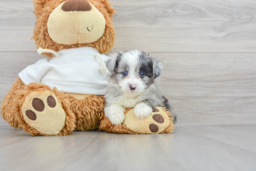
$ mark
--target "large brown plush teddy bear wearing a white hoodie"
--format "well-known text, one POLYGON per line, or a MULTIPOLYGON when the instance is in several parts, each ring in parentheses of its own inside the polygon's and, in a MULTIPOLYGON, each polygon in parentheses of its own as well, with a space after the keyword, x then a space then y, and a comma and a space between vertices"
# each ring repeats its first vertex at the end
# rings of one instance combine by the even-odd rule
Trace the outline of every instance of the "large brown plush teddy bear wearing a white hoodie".
POLYGON ((69 135, 74 130, 113 133, 173 132, 171 114, 162 107, 144 119, 125 112, 124 122, 104 116, 104 62, 116 38, 108 0, 33 0, 37 18, 33 39, 46 58, 22 70, 1 104, 12 127, 31 135, 69 135))

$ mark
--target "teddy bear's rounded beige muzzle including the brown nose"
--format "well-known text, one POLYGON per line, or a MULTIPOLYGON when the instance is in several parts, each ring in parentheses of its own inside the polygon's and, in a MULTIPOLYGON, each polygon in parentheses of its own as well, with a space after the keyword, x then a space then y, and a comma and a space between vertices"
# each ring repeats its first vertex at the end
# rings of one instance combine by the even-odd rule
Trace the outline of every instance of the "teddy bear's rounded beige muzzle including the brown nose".
POLYGON ((47 30, 58 44, 85 44, 99 40, 106 20, 95 6, 86 0, 67 0, 49 15, 47 30))

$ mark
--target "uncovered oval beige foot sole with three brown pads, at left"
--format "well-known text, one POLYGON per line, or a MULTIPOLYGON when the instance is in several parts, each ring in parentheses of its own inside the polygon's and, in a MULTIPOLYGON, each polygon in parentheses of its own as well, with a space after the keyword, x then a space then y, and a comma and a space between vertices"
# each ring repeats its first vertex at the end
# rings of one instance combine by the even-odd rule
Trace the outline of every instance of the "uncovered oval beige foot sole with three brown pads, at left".
POLYGON ((65 111, 50 91, 30 93, 22 105, 26 123, 42 134, 56 135, 65 124, 65 111))

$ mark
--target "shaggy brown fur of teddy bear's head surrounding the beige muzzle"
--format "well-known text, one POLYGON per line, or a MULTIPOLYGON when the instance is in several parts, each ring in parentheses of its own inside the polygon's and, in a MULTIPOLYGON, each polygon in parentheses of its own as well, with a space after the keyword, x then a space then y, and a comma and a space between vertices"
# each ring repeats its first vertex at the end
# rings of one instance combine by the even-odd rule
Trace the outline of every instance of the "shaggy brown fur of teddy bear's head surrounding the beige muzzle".
MULTIPOLYGON (((59 6, 65 0, 33 0, 35 7, 35 14, 37 17, 37 22, 35 25, 35 30, 33 34, 33 39, 36 41, 37 48, 42 47, 43 49, 50 49, 55 52, 59 52, 62 49, 71 49, 78 47, 93 47, 98 49, 100 53, 107 53, 113 47, 116 33, 114 30, 113 23, 111 21, 111 17, 115 13, 114 8, 111 6, 110 1, 108 0, 88 0, 91 4, 93 4, 105 17, 106 27, 103 33, 103 36, 93 42, 93 43, 85 43, 85 44, 71 44, 71 45, 63 45, 55 43, 48 34, 47 22, 49 15, 51 12, 59 6)), ((43 53, 43 55, 53 57, 52 53, 43 53)))

